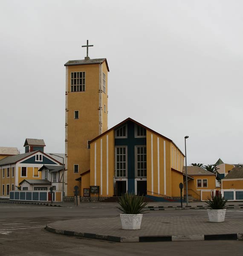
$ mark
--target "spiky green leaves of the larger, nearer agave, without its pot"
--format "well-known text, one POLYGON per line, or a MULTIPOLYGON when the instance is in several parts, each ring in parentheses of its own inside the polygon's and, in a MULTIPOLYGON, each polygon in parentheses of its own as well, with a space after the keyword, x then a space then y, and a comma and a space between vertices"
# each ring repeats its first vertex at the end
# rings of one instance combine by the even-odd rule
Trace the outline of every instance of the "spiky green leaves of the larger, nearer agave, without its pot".
POLYGON ((139 214, 146 213, 144 207, 148 204, 144 202, 144 197, 138 197, 133 193, 123 194, 118 201, 120 207, 117 207, 122 213, 125 214, 139 214))

